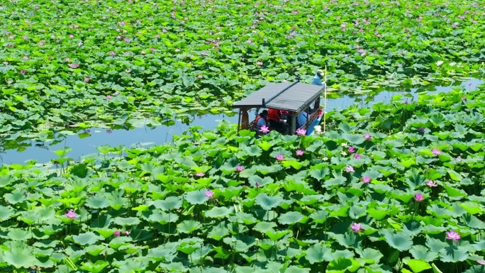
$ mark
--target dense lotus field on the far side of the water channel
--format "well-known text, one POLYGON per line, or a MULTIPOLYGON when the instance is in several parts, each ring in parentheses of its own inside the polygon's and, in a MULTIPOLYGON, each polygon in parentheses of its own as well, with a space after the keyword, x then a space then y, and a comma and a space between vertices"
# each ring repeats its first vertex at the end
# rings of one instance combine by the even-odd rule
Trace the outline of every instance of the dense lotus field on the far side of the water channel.
POLYGON ((350 92, 483 74, 484 14, 482 1, 2 1, 0 134, 160 126, 325 65, 350 92))

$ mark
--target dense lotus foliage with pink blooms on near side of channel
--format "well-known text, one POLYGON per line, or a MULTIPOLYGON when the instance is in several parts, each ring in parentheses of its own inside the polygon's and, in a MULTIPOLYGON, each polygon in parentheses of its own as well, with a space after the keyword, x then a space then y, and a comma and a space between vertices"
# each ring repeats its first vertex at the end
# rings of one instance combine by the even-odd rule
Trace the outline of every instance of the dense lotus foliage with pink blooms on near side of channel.
POLYGON ((0 169, 2 272, 484 272, 485 86, 0 169), (70 162, 69 165, 65 163, 70 162))

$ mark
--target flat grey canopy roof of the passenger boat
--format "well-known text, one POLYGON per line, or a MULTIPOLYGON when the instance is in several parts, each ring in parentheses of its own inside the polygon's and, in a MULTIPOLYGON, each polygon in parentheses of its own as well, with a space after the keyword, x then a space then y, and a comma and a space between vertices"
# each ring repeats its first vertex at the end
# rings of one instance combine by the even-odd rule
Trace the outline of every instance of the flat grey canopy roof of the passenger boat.
POLYGON ((267 84, 233 104, 233 108, 275 108, 300 113, 320 97, 324 86, 284 82, 267 84))

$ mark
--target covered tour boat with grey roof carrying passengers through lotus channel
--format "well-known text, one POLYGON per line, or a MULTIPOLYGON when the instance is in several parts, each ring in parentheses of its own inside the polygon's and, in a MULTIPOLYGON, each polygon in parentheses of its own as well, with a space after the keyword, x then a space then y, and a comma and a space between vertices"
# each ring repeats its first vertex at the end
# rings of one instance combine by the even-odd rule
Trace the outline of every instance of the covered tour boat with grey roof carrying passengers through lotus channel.
POLYGON ((326 104, 326 71, 323 85, 304 84, 299 77, 296 82, 269 83, 233 104, 233 108, 239 109, 238 133, 240 130, 256 130, 254 120, 260 109, 275 108, 282 114, 281 119, 290 121, 289 135, 294 135, 297 130, 296 117, 313 105, 308 121, 301 127, 306 129, 306 135, 312 135, 322 118, 325 121, 326 105, 320 108, 321 94, 325 94, 326 104), (250 122, 248 112, 252 109, 256 110, 256 116, 250 122))

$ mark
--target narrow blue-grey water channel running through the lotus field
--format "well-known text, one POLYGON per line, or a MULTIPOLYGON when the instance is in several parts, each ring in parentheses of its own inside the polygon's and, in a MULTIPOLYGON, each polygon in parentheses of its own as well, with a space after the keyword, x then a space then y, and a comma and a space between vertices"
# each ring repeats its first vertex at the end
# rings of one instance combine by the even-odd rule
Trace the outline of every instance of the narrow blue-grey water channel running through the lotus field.
MULTIPOLYGON (((440 92, 451 91, 453 88, 462 87, 466 90, 473 90, 477 85, 484 83, 481 79, 470 79, 467 82, 454 82, 447 86, 427 86, 413 89, 396 89, 393 91, 381 91, 378 94, 362 94, 352 96, 338 96, 338 94, 331 94, 328 99, 327 111, 344 109, 352 104, 357 103, 360 107, 369 107, 377 102, 387 103, 391 101, 393 96, 402 94, 408 101, 413 101, 418 98, 418 93, 427 91, 427 94, 434 94, 440 92), (338 96, 338 97, 335 97, 338 96)), ((255 113, 250 114, 250 118, 255 116, 255 113)), ((203 130, 213 130, 220 121, 229 121, 230 123, 238 123, 237 113, 233 115, 205 115, 196 116, 194 114, 193 121, 189 125, 182 123, 179 119, 174 119, 170 122, 170 126, 159 126, 156 128, 135 128, 132 130, 111 130, 106 128, 90 128, 89 130, 77 130, 77 133, 72 132, 70 135, 55 135, 49 142, 40 143, 34 140, 18 141, 11 150, 4 150, 0 152, 0 162, 3 164, 22 164, 27 160, 35 160, 36 162, 50 162, 55 160, 58 156, 54 151, 62 150, 65 147, 71 147, 72 151, 67 155, 74 160, 79 160, 83 155, 89 155, 98 152, 96 147, 101 145, 110 145, 116 147, 123 145, 126 147, 150 147, 150 145, 157 145, 171 142, 174 135, 182 135, 184 131, 191 126, 201 126, 203 130)), ((66 131, 65 131, 66 132, 66 131)), ((5 148, 5 145, 2 145, 5 148)))

